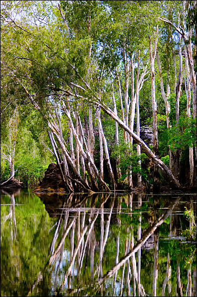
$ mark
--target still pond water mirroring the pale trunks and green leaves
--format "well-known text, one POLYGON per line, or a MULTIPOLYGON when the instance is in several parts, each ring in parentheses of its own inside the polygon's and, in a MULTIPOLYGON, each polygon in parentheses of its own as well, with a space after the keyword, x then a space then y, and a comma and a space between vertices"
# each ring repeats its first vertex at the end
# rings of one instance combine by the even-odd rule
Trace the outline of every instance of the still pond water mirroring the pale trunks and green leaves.
POLYGON ((1 296, 196 296, 196 196, 1 190, 1 296))

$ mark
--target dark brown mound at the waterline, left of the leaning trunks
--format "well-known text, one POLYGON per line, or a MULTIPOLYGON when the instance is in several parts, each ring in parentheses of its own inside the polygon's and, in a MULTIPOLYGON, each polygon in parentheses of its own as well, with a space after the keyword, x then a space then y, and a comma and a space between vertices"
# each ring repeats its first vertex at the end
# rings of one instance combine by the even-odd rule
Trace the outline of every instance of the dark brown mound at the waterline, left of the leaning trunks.
POLYGON ((40 181, 37 188, 33 192, 59 193, 65 192, 65 186, 62 182, 61 175, 57 164, 51 163, 40 181))

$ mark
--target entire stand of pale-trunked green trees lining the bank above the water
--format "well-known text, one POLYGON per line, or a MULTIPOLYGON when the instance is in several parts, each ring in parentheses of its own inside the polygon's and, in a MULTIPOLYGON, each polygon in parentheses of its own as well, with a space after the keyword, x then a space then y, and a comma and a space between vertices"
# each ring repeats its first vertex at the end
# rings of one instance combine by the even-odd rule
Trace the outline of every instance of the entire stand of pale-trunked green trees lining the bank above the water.
POLYGON ((196 7, 1 1, 1 182, 56 162, 69 192, 195 186, 196 7))

